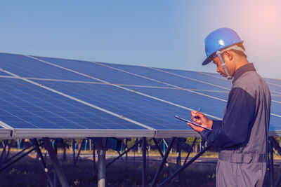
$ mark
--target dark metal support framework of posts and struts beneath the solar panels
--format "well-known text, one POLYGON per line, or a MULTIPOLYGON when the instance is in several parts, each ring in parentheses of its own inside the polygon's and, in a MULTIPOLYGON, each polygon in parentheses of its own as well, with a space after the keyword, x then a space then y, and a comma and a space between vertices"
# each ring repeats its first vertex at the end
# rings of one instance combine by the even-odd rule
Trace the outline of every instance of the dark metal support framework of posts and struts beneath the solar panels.
MULTIPOLYGON (((96 175, 96 174, 98 175, 98 187, 105 186, 105 168, 110 166, 113 162, 115 162, 119 158, 122 158, 123 155, 127 155, 127 153, 129 151, 131 151, 131 149, 138 146, 138 144, 142 144, 142 151, 143 151, 142 183, 143 183, 143 186, 148 186, 148 179, 147 179, 147 172, 146 172, 146 168, 147 168, 147 140, 146 140, 146 138, 143 137, 141 140, 136 141, 133 146, 131 146, 130 148, 126 148, 123 153, 120 153, 119 156, 117 156, 117 158, 111 160, 107 164, 105 163, 105 151, 106 151, 106 147, 105 147, 106 140, 105 139, 106 138, 100 138, 100 141, 98 141, 96 143, 93 141, 93 146, 92 146, 93 147, 93 175, 96 175), (95 150, 96 149, 98 150, 98 165, 97 165, 98 168, 96 167, 96 161, 95 161, 95 157, 96 157, 95 150)), ((63 169, 60 166, 60 163, 58 162, 58 156, 57 156, 56 150, 55 150, 56 144, 54 144, 52 146, 51 139, 49 139, 49 138, 43 138, 40 141, 37 141, 37 139, 30 139, 30 140, 32 142, 32 144, 30 146, 25 147, 24 149, 22 149, 22 151, 16 153, 15 155, 11 156, 10 158, 7 158, 7 153, 6 153, 6 146, 8 146, 8 141, 7 140, 4 141, 4 149, 1 153, 1 158, 0 158, 0 160, 2 160, 2 162, 0 163, 0 172, 2 170, 6 169, 6 167, 12 165, 14 162, 17 162, 21 158, 25 157, 25 155, 28 155, 32 151, 36 151, 38 158, 40 160, 40 163, 41 163, 41 168, 44 170, 50 186, 51 187, 57 186, 56 179, 58 179, 61 186, 69 186, 67 183, 65 174, 63 172, 63 169), (51 173, 49 172, 49 170, 46 166, 46 158, 44 158, 44 155, 41 153, 40 146, 43 146, 43 145, 46 146, 46 149, 48 151, 48 155, 50 156, 53 168, 55 169, 55 176, 53 177, 53 179, 51 177, 51 173), (28 150, 28 149, 30 149, 30 150, 28 150)), ((197 153, 197 155, 195 155, 195 157, 191 158, 188 161, 189 155, 192 151, 192 147, 195 145, 195 141, 197 140, 197 138, 195 138, 194 141, 192 142, 192 145, 190 146, 190 148, 188 150, 188 154, 183 162, 183 165, 181 166, 181 143, 182 143, 181 139, 176 138, 176 137, 171 138, 169 146, 166 149, 164 154, 159 146, 159 143, 157 142, 157 139, 153 138, 152 140, 155 142, 155 145, 157 146, 157 150, 159 151, 159 154, 162 157, 162 162, 159 165, 159 168, 157 169, 157 172, 155 173, 154 178, 152 179, 152 182, 151 182, 152 187, 157 186, 157 179, 159 177, 160 172, 162 172, 164 165, 166 165, 166 167, 169 169, 170 176, 168 176, 166 179, 164 179, 164 181, 159 183, 158 186, 165 186, 167 183, 169 183, 169 181, 171 181, 176 176, 178 176, 178 174, 183 172, 184 169, 186 169, 189 165, 191 165, 192 162, 195 162, 195 160, 197 160, 197 158, 199 158, 202 154, 204 154, 211 147, 211 146, 206 146, 205 148, 202 149, 202 151, 200 151, 200 153, 197 153), (169 153, 171 152, 171 148, 173 148, 173 146, 176 142, 177 142, 176 160, 177 160, 178 169, 176 169, 175 172, 172 172, 171 168, 169 167, 169 164, 167 162, 167 158, 169 156, 169 153)), ((79 153, 81 152, 81 148, 83 147, 84 142, 85 142, 85 139, 83 140, 83 142, 79 148, 77 157, 75 157, 75 155, 74 155, 74 164, 77 163, 79 153)), ((281 155, 281 147, 277 143, 276 139, 274 137, 269 137, 269 139, 268 139, 268 162, 267 162, 268 172, 266 173, 266 177, 269 177, 270 186, 280 186, 281 174, 279 176, 277 176, 277 179, 274 181, 273 148, 277 151, 277 153, 279 153, 281 155)))

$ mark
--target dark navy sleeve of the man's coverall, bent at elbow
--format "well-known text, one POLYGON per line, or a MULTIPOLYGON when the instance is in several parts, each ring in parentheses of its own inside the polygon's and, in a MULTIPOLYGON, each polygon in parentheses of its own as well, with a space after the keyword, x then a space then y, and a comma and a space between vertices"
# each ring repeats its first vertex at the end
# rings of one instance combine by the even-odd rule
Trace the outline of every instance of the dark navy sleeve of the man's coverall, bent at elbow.
POLYGON ((221 125, 219 121, 214 120, 212 130, 203 130, 201 136, 212 146, 221 148, 242 144, 247 140, 255 108, 254 97, 242 88, 233 88, 221 125))

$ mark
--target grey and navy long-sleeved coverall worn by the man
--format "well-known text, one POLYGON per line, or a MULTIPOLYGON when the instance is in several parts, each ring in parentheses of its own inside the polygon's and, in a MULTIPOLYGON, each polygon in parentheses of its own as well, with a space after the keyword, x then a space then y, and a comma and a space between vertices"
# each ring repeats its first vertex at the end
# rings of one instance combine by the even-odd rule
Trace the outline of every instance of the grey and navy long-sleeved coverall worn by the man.
POLYGON ((270 106, 270 91, 254 65, 237 69, 223 120, 201 132, 219 147, 216 186, 263 186, 270 106))

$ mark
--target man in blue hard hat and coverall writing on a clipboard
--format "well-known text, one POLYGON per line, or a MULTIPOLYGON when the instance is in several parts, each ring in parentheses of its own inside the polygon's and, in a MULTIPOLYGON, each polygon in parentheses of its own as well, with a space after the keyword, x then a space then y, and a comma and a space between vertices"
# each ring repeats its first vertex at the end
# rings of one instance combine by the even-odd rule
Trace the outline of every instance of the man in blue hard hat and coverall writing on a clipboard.
POLYGON ((266 82, 247 61, 243 41, 235 31, 217 29, 205 39, 207 59, 233 86, 223 120, 210 120, 191 111, 193 122, 209 127, 204 130, 188 123, 203 139, 219 148, 216 186, 263 186, 270 118, 270 91, 266 82))

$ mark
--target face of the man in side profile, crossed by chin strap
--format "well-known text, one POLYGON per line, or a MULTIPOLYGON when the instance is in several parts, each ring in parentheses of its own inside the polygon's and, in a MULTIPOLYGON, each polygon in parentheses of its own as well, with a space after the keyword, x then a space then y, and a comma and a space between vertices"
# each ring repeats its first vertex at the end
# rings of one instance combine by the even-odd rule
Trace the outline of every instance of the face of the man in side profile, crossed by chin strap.
MULTIPOLYGON (((226 68, 228 69, 228 73, 230 76, 233 76, 235 73, 235 63, 232 62, 233 57, 229 56, 230 53, 223 53, 223 60, 226 63, 226 68)), ((221 66, 221 60, 218 57, 214 57, 213 59, 214 64, 216 64, 216 72, 221 74, 221 76, 227 77, 226 71, 224 71, 223 67, 221 66)))

